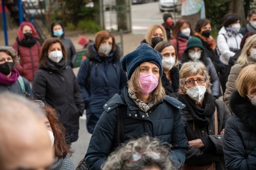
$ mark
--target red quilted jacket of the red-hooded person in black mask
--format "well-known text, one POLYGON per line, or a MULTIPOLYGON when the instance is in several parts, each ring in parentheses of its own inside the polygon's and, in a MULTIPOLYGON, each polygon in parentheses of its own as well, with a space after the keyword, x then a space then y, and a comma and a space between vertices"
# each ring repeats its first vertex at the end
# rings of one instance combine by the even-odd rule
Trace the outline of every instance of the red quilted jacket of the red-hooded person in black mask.
POLYGON ((41 50, 39 41, 30 48, 20 46, 17 41, 15 41, 12 48, 14 48, 14 50, 16 50, 20 55, 20 63, 16 69, 21 76, 29 80, 29 82, 32 82, 36 71, 38 71, 38 57, 41 50))

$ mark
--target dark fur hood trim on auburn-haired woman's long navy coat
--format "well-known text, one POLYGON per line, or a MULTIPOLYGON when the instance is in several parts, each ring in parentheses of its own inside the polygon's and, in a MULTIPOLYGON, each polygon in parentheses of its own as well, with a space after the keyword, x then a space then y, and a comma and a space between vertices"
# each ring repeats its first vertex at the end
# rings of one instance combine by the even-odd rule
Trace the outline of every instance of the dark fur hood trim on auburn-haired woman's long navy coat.
MULTIPOLYGON (((95 44, 94 43, 89 43, 86 47, 86 54, 87 57, 90 58, 91 60, 100 60, 100 55, 98 54, 98 51, 96 50, 95 44)), ((119 61, 120 58, 122 57, 122 50, 121 48, 115 44, 114 50, 111 50, 109 53, 109 56, 107 56, 107 60, 114 60, 114 61, 119 61)))

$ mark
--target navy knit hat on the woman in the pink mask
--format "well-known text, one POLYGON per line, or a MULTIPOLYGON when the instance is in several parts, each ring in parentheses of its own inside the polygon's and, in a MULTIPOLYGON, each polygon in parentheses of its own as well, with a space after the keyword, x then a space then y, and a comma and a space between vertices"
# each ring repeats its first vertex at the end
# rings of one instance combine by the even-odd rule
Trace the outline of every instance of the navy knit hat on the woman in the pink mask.
POLYGON ((121 58, 120 62, 122 69, 127 72, 128 80, 130 80, 134 69, 143 62, 156 64, 162 77, 162 54, 148 44, 142 43, 136 50, 121 58))

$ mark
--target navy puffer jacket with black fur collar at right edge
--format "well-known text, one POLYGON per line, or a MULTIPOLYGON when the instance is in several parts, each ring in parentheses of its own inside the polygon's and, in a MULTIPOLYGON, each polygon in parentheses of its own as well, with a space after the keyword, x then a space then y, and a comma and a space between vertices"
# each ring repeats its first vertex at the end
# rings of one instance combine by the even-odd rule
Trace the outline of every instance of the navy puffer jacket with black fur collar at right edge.
POLYGON ((223 151, 227 169, 256 169, 256 106, 236 90, 230 98, 236 115, 227 120, 223 151))

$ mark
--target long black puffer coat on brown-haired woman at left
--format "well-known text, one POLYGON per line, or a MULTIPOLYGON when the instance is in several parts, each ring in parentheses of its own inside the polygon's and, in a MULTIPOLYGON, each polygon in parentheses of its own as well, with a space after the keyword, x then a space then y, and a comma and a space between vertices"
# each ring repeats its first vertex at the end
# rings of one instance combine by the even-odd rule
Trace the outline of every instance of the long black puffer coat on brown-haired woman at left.
POLYGON ((33 80, 33 95, 57 109, 59 118, 70 133, 79 131, 79 116, 83 115, 83 99, 79 84, 70 66, 61 60, 57 65, 48 60, 46 67, 40 65, 33 80))

